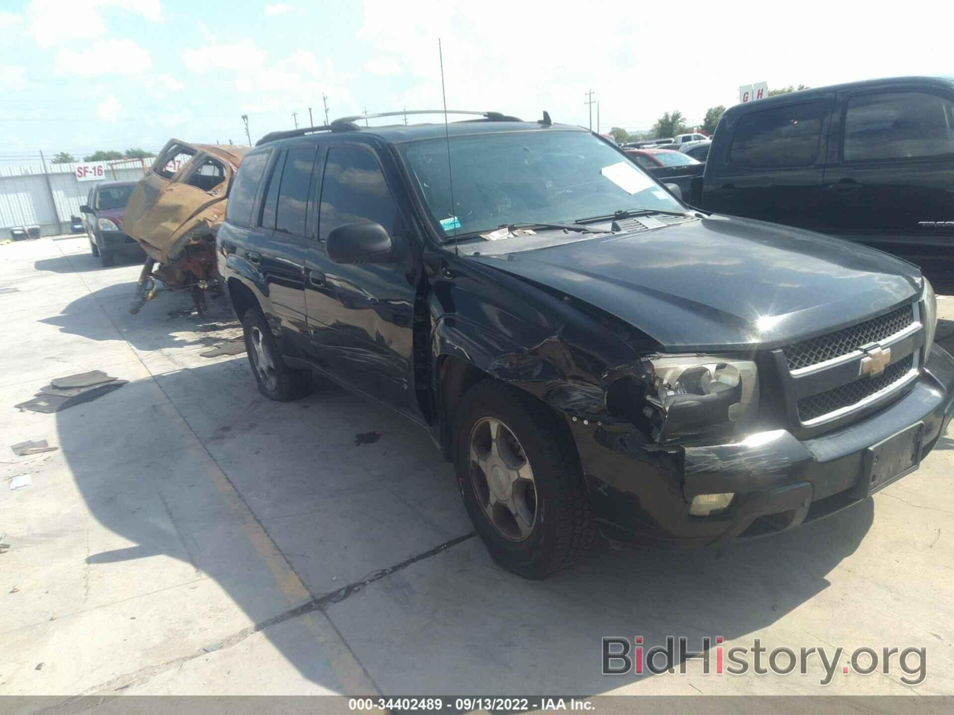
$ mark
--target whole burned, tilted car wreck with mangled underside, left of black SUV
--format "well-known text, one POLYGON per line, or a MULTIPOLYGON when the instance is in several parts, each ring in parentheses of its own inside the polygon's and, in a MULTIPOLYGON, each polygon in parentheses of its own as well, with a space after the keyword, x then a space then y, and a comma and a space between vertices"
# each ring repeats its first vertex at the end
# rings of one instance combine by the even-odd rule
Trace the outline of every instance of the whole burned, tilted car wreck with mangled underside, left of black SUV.
POLYGON ((125 229, 146 252, 131 313, 160 290, 189 290, 199 314, 218 290, 216 233, 244 147, 172 139, 130 196, 125 229))

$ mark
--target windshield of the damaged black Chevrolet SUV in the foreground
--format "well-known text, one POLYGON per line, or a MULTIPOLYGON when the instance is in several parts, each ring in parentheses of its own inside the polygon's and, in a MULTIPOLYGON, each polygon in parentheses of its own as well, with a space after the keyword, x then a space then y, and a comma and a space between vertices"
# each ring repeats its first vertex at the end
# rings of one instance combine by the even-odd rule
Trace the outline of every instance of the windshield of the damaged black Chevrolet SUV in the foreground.
POLYGON ((400 145, 432 220, 452 236, 525 223, 572 223, 620 210, 682 211, 625 154, 589 133, 539 130, 400 145))

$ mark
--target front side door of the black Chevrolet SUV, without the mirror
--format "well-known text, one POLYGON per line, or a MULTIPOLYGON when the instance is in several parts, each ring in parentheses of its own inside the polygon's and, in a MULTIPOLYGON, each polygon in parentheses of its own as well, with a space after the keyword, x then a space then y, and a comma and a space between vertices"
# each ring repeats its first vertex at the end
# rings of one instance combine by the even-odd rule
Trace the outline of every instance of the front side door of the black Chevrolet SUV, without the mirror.
POLYGON ((380 156, 358 143, 328 149, 318 240, 305 267, 308 324, 319 364, 359 390, 420 419, 412 378, 417 262, 396 198, 403 184, 390 155, 384 154, 384 163, 380 156), (338 226, 359 221, 384 226, 404 261, 332 262, 324 249, 325 238, 338 226))

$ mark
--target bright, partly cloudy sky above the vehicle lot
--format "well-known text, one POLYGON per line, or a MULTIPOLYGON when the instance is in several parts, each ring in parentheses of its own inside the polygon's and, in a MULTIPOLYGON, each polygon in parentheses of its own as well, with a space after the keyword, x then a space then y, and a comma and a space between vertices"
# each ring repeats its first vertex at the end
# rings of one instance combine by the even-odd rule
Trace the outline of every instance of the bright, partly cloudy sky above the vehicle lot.
MULTIPOLYGON (((689 123, 738 87, 954 75, 954 3, 0 0, 0 161, 247 143, 329 116, 442 107, 596 128, 689 123), (707 10, 708 9, 708 10, 707 10), (935 31, 931 31, 934 28, 935 31), (940 34, 939 34, 940 32, 940 34)), ((439 119, 438 119, 439 120, 439 119)), ((372 120, 372 125, 375 123, 372 120)), ((377 123, 383 123, 378 120, 377 123)))

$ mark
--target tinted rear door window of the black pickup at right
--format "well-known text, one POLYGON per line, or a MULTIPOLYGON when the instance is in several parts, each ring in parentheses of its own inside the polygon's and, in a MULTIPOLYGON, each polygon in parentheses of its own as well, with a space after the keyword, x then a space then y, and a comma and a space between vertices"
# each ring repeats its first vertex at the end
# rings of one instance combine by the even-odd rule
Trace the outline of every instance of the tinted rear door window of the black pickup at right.
POLYGON ((819 154, 824 102, 750 112, 738 121, 729 161, 749 169, 811 166, 819 154))

